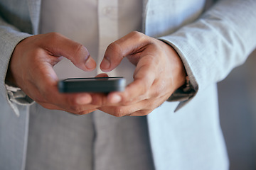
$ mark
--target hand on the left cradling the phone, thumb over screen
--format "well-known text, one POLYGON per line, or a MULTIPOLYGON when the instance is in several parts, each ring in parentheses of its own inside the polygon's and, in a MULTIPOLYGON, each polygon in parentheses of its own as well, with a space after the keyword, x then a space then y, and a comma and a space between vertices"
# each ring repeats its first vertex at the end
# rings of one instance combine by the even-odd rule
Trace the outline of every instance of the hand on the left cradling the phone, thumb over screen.
POLYGON ((95 111, 98 106, 90 104, 90 94, 58 93, 58 77, 53 66, 62 56, 84 71, 91 71, 96 67, 84 46, 58 33, 48 33, 31 36, 16 45, 6 79, 45 108, 75 114, 95 111))

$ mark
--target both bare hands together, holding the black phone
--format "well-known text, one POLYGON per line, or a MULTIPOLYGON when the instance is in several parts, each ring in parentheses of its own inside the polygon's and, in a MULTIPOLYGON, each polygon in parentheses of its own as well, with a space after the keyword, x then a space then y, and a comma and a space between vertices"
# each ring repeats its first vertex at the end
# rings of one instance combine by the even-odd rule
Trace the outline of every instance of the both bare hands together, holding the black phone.
MULTIPOLYGON (((186 72, 176 51, 165 42, 132 32, 107 47, 103 72, 127 57, 136 65, 134 81, 122 92, 60 94, 53 66, 63 57, 85 72, 96 67, 87 49, 58 33, 33 35, 16 45, 6 80, 48 109, 87 114, 97 109, 111 115, 147 115, 185 82, 186 72)), ((107 77, 100 74, 97 77, 107 77)))

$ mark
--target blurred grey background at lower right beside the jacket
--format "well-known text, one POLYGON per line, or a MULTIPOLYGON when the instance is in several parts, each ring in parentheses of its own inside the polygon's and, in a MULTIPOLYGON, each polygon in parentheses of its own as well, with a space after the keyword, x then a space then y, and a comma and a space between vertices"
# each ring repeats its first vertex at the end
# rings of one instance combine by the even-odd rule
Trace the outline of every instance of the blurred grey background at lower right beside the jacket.
POLYGON ((230 170, 256 170, 256 50, 218 83, 230 170))

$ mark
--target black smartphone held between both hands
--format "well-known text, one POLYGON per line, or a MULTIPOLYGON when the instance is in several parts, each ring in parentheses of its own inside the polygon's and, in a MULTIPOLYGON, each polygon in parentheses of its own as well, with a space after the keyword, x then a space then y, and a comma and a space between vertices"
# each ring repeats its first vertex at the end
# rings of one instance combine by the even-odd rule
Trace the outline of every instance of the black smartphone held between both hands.
POLYGON ((126 81, 123 77, 93 77, 72 78, 58 82, 60 93, 110 93, 111 91, 124 91, 126 81))

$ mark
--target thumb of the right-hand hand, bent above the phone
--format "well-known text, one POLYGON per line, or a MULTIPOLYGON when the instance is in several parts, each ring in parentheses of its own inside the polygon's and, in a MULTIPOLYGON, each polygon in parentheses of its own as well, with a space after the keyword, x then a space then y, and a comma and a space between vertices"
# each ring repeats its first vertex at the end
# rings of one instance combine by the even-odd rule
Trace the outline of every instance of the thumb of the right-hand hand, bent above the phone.
POLYGON ((123 60, 127 55, 138 52, 145 45, 146 35, 139 32, 132 32, 123 38, 112 42, 107 47, 105 56, 100 64, 103 72, 110 72, 123 60))

